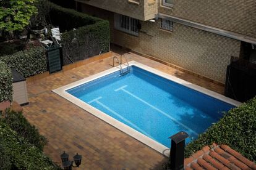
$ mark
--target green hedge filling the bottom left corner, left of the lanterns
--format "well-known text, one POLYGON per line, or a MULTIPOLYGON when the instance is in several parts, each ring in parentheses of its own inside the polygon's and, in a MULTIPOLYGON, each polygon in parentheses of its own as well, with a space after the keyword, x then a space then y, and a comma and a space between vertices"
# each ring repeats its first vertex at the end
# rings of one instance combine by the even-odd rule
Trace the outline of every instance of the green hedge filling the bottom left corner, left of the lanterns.
MULTIPOLYGON (((2 140, 2 146, 4 146, 4 153, 9 156, 12 169, 61 169, 40 149, 17 135, 11 127, 2 121, 0 121, 0 139, 2 140)), ((4 155, 0 156, 1 159, 4 155)), ((6 167, 9 168, 9 164, 6 167)))

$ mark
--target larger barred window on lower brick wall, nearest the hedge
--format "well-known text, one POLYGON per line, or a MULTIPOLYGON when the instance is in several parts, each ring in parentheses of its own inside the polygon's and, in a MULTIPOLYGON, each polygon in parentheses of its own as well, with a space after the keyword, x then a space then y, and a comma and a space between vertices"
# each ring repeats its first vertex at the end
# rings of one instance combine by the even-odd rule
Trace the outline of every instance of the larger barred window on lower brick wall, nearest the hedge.
POLYGON ((126 15, 114 14, 114 28, 125 33, 139 35, 139 20, 127 17, 126 15))

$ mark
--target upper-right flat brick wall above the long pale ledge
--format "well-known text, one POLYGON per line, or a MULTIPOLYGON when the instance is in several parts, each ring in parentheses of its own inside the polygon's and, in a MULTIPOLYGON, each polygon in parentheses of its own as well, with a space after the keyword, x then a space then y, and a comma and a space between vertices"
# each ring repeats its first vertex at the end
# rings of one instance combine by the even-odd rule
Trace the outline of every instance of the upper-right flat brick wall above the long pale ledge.
POLYGON ((172 9, 159 0, 158 12, 256 37, 255 0, 174 0, 172 9))

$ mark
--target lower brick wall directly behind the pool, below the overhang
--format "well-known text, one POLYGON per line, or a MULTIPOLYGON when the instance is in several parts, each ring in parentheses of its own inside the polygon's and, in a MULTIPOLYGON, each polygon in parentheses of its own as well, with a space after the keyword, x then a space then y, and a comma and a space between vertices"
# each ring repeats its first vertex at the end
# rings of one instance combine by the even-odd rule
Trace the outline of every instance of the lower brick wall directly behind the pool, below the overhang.
POLYGON ((108 19, 111 42, 173 63, 198 75, 224 83, 231 55, 239 56, 240 41, 174 23, 173 32, 160 30, 160 20, 141 22, 139 36, 114 30, 114 14, 83 5, 88 14, 108 19))

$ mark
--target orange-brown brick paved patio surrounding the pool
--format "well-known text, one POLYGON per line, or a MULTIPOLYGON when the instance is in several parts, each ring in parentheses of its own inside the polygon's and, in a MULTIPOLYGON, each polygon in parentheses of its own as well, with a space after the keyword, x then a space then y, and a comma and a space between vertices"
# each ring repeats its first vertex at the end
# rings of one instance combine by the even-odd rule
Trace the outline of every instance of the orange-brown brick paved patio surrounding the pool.
MULTIPOLYGON (((222 86, 204 79, 131 52, 126 56, 128 60, 223 93, 222 86)), ((49 140, 45 153, 58 164, 61 163, 59 155, 65 150, 71 158, 76 152, 83 156, 78 169, 159 169, 167 160, 163 155, 52 92, 53 89, 107 70, 111 68, 111 63, 112 57, 109 57, 28 83, 30 104, 23 107, 24 115, 49 140)))

